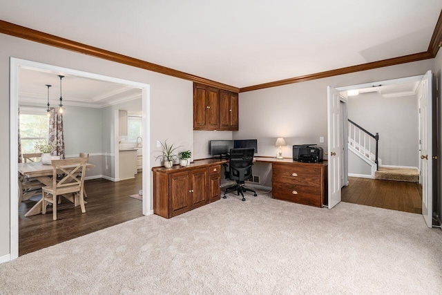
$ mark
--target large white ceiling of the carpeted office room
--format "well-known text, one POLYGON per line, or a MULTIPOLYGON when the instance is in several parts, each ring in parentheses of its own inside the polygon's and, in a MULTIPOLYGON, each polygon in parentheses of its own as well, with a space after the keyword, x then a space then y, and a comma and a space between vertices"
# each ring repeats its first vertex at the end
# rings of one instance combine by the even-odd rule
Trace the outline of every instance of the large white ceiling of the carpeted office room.
POLYGON ((442 0, 0 0, 0 19, 242 88, 424 52, 441 9, 442 0))

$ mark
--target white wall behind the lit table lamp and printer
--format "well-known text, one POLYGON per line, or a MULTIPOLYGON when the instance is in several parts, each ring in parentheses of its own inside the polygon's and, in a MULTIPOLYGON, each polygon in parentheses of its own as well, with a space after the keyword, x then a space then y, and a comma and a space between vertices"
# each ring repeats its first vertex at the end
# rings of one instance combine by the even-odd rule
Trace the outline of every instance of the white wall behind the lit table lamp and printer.
MULTIPOLYGON (((423 75, 433 66, 434 60, 428 59, 240 93, 240 131, 233 132, 233 139, 257 138, 258 155, 274 157, 278 151, 274 146, 276 138, 284 137, 287 146, 282 149, 282 155, 291 158, 291 145, 318 144, 319 137, 323 136, 325 144, 320 146, 327 151, 327 86, 336 88, 423 75)), ((266 173, 266 169, 262 169, 262 173, 266 173)), ((269 183, 265 178, 271 175, 260 176, 261 182, 269 183)))

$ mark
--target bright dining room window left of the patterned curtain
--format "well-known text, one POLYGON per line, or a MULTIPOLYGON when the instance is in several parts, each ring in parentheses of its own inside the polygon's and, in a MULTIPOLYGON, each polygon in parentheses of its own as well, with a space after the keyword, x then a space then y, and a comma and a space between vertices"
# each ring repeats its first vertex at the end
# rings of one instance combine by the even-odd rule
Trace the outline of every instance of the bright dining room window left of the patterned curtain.
POLYGON ((21 153, 38 153, 34 145, 39 140, 48 140, 49 118, 46 111, 20 108, 21 153))

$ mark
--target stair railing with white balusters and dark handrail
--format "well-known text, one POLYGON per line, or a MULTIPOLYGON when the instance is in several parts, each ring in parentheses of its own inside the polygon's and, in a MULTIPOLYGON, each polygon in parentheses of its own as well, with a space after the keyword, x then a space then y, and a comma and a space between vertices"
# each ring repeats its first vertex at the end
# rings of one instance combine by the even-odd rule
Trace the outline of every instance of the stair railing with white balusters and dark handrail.
POLYGON ((372 166, 372 178, 378 170, 381 159, 378 158, 379 134, 373 135, 352 120, 348 120, 348 150, 372 166))

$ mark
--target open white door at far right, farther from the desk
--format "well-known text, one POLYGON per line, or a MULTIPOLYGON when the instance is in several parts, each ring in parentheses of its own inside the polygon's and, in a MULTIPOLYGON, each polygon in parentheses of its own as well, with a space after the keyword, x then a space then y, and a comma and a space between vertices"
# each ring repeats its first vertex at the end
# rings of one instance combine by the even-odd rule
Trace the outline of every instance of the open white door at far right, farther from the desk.
POLYGON ((421 142, 422 215, 427 227, 432 227, 432 73, 427 71, 421 80, 419 97, 419 140, 421 142))

